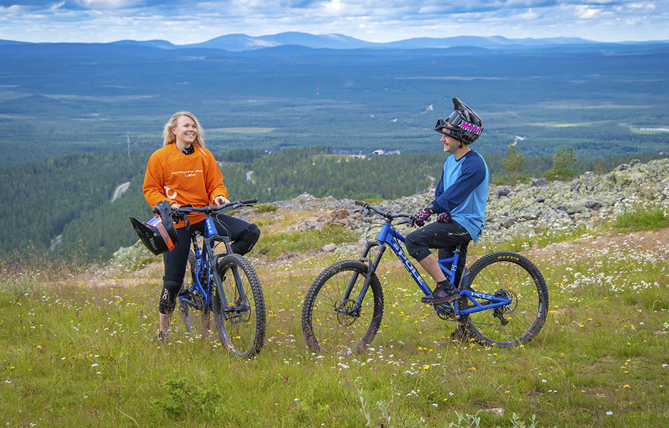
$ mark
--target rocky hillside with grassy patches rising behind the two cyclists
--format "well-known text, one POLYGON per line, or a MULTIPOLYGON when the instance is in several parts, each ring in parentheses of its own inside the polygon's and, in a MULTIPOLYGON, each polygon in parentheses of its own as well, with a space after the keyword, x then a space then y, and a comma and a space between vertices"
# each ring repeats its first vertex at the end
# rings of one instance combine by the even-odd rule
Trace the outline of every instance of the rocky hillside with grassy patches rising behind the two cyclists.
MULTIPOLYGON (((430 190, 395 200, 382 200, 374 205, 395 213, 414 213, 427 205, 432 195, 433 190, 430 190)), ((308 267, 310 262, 307 260, 327 259, 330 257, 328 253, 356 258, 362 250, 364 237, 374 237, 374 233, 369 231, 368 219, 355 213, 360 207, 351 199, 315 198, 305 193, 270 205, 276 210, 257 213, 257 210, 249 208, 237 213, 239 217, 259 224, 262 238, 252 257, 264 265, 280 266, 288 262, 308 267), (314 231, 331 228, 340 228, 342 235, 352 239, 332 245, 327 240, 310 238, 309 243, 301 248, 281 253, 271 248, 272 245, 299 240, 314 231), (351 230, 352 234, 343 233, 345 230, 351 230), (270 243, 263 243, 264 240, 270 243)), ((545 179, 538 179, 514 187, 491 185, 486 227, 482 238, 470 252, 482 255, 500 249, 526 251, 550 248, 550 253, 555 251, 556 245, 563 245, 560 244, 562 241, 573 241, 571 245, 577 246, 605 246, 609 240, 624 240, 618 236, 618 233, 625 232, 621 219, 653 213, 660 218, 659 223, 633 224, 630 228, 669 227, 669 159, 648 163, 633 161, 619 165, 610 173, 587 172, 569 181, 547 183, 545 179)), ((410 228, 400 225, 399 230, 404 234, 410 228)), ((636 236, 664 242, 667 235, 666 230, 649 230, 636 236)), ((137 267, 150 260, 157 264, 149 270, 159 271, 159 258, 154 258, 137 242, 114 253, 114 258, 96 277, 128 280, 127 277, 121 279, 127 267, 137 267)), ((142 270, 141 275, 146 273, 142 270)))

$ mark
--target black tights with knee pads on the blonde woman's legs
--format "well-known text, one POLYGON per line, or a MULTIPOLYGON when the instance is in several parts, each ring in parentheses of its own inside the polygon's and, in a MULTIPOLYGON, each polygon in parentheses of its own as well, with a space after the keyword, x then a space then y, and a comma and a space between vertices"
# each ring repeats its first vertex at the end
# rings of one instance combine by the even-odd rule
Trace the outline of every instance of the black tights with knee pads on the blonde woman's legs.
MULTIPOLYGON (((257 225, 224 214, 214 214, 212 217, 214 217, 217 233, 230 237, 233 253, 241 255, 248 253, 260 238, 260 229, 257 225)), ((174 245, 172 251, 163 253, 165 275, 163 277, 163 290, 160 293, 158 303, 158 310, 162 314, 169 314, 174 310, 174 302, 177 300, 177 293, 186 274, 186 262, 191 248, 191 235, 195 230, 204 233, 204 223, 204 220, 202 220, 192 224, 188 230, 177 228, 179 244, 174 245)))

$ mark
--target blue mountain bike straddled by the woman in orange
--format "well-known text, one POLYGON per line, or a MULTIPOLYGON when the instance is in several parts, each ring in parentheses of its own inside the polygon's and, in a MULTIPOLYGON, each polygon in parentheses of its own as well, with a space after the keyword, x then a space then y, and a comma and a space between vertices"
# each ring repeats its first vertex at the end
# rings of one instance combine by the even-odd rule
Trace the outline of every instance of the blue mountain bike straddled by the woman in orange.
MULTIPOLYGON (((219 339, 233 354, 253 357, 264 344, 267 325, 262 287, 253 265, 242 255, 232 253, 228 236, 217 234, 212 213, 229 212, 243 206, 251 206, 257 199, 239 200, 219 206, 192 208, 182 206, 172 210, 175 221, 186 219, 188 213, 201 213, 207 223, 202 234, 202 246, 198 245, 199 232, 192 239, 187 270, 190 278, 184 278, 179 290, 179 312, 186 330, 197 334, 196 312, 202 315, 202 331, 209 330, 209 312, 214 315, 219 339), (223 253, 215 254, 217 245, 223 243, 223 253)), ((188 224, 188 223, 187 223, 188 224)))

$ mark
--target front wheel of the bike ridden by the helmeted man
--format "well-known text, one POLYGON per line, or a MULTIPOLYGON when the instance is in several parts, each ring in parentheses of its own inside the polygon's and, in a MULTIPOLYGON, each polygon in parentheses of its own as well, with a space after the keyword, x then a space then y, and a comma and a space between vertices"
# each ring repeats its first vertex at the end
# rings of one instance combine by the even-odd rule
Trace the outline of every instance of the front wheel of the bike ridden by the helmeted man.
POLYGON ((340 306, 342 293, 357 275, 352 290, 352 305, 369 273, 367 265, 357 260, 341 260, 327 267, 314 280, 302 307, 302 333, 309 350, 317 354, 362 352, 376 336, 383 315, 383 291, 377 275, 372 272, 370 288, 362 301, 360 315, 348 315, 340 306))

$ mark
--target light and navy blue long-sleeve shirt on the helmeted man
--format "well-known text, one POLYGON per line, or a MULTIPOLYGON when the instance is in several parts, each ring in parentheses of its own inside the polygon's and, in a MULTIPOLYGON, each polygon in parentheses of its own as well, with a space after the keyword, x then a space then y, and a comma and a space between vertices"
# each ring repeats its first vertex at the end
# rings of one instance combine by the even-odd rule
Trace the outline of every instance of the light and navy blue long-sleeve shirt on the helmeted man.
POLYGON ((448 156, 432 205, 436 213, 448 211, 476 242, 485 225, 487 189, 488 169, 480 154, 468 151, 457 161, 448 156))

